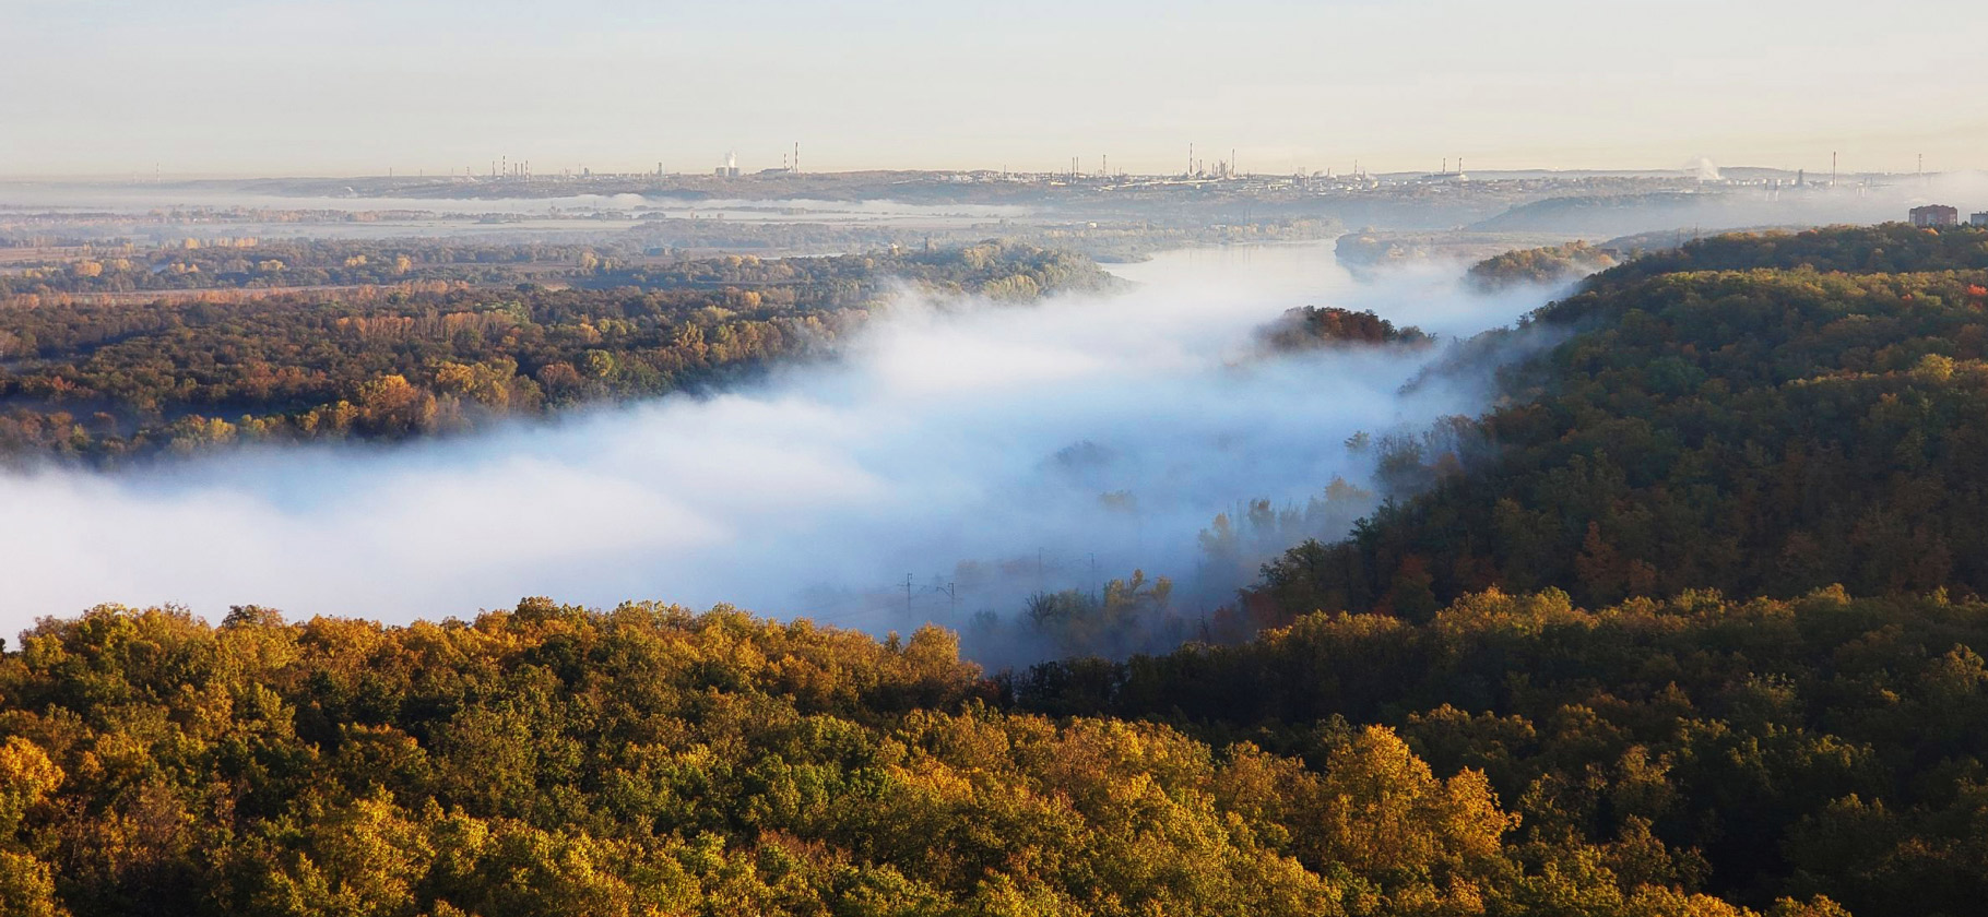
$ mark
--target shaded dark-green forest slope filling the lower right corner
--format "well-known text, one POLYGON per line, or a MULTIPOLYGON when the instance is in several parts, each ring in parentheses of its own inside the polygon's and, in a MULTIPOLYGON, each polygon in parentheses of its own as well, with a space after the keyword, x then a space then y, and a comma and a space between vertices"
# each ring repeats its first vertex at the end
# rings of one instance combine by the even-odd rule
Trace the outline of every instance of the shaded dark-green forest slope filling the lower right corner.
MULTIPOLYGON (((1958 917, 1988 899, 1984 645, 1988 605, 1942 595, 1588 611, 1485 591, 1425 623, 1312 613, 1242 645, 1048 663, 1012 691, 1310 764, 1392 728, 1437 776, 1483 774, 1517 816, 1507 852, 1553 875, 1958 917)), ((1642 913, 1592 901, 1489 913, 1642 913)))

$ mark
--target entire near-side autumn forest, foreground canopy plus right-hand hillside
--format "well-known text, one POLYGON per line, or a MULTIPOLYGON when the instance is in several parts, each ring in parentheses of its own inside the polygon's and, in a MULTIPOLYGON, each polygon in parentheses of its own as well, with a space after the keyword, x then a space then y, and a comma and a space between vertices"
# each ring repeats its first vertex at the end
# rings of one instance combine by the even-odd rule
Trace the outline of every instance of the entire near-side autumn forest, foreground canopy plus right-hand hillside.
POLYGON ((1024 611, 1229 645, 988 675, 728 607, 44 619, 0 655, 0 911, 1976 913, 1984 286, 1988 232, 1906 226, 1612 268, 1493 413, 1382 449, 1417 496, 1229 615, 1143 578, 1024 611))

